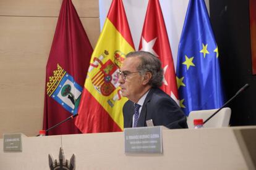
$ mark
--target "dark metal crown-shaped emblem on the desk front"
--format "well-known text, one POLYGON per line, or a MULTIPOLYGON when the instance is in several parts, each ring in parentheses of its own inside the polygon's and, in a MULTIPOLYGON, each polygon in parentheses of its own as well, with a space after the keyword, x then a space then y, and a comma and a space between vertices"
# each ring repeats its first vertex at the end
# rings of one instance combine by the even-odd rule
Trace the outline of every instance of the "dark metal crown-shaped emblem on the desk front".
POLYGON ((75 169, 75 155, 73 154, 69 160, 65 160, 63 148, 59 148, 59 161, 54 160, 51 155, 49 157, 49 168, 51 170, 61 170, 61 169, 75 169))

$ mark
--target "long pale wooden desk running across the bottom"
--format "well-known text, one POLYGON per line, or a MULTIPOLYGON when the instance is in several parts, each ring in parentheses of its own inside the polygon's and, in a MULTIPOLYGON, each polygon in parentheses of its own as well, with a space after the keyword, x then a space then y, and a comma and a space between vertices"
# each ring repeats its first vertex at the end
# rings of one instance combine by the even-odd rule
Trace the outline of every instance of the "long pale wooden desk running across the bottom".
POLYGON ((123 132, 22 137, 13 153, 0 139, 0 169, 49 169, 60 147, 75 169, 255 169, 256 126, 164 129, 161 154, 126 154, 123 132))

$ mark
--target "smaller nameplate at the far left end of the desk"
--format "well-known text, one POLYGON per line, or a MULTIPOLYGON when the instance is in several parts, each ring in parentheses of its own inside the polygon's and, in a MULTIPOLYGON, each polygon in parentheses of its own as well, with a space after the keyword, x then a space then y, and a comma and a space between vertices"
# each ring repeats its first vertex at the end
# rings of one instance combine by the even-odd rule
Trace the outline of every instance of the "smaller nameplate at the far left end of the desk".
POLYGON ((22 152, 22 134, 4 134, 4 152, 22 152))

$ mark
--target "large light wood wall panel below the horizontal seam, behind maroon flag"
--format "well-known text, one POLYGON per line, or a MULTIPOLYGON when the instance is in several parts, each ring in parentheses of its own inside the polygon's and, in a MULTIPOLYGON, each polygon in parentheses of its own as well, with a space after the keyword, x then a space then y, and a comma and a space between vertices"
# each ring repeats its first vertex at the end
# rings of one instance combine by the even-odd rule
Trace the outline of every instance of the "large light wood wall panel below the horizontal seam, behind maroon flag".
MULTIPOLYGON (((0 17, 0 137, 3 132, 34 136, 42 128, 45 68, 57 17, 0 17)), ((98 18, 82 18, 92 45, 98 18)))

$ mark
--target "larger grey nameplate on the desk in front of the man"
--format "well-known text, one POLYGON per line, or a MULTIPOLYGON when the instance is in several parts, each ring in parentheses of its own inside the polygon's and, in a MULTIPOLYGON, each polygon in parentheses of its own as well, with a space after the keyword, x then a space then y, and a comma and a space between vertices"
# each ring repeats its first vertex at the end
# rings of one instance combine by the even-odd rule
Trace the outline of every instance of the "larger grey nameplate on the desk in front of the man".
POLYGON ((163 126, 124 129, 125 153, 163 153, 163 126))

